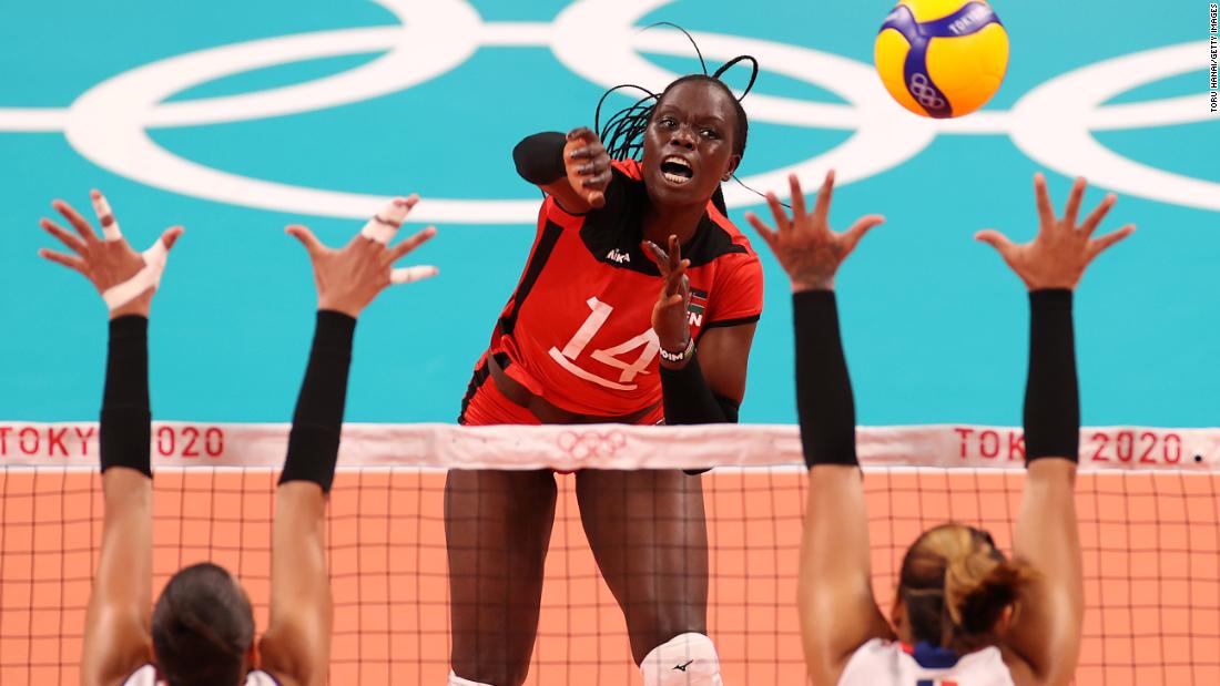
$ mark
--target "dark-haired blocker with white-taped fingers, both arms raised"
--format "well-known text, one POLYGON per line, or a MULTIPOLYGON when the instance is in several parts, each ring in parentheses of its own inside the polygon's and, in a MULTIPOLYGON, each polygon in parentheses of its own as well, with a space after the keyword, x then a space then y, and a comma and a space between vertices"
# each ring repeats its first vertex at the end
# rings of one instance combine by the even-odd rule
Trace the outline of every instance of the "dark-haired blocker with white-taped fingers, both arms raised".
POLYGON ((110 308, 99 431, 105 523, 85 615, 81 681, 87 686, 323 685, 332 619, 323 528, 356 317, 392 279, 434 273, 390 268, 434 232, 388 247, 388 235, 414 202, 401 199, 340 250, 325 247, 304 227, 288 229, 305 244, 314 263, 317 328, 276 493, 270 625, 255 649, 249 596, 222 567, 205 562, 183 568, 152 607, 146 331, 152 294, 182 228, 168 229, 142 255, 122 238, 101 194, 94 191, 93 201, 104 238, 76 210, 56 201, 55 210, 76 234, 49 219, 41 225, 71 253, 39 251, 81 272, 110 308))

